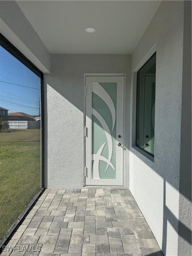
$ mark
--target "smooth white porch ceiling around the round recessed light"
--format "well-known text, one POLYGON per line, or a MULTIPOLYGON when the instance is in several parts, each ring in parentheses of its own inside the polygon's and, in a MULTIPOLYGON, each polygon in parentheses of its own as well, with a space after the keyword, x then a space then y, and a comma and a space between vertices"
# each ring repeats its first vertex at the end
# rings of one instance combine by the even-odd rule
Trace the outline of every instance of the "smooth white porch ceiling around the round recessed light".
POLYGON ((17 3, 50 53, 123 54, 132 53, 161 1, 17 3))

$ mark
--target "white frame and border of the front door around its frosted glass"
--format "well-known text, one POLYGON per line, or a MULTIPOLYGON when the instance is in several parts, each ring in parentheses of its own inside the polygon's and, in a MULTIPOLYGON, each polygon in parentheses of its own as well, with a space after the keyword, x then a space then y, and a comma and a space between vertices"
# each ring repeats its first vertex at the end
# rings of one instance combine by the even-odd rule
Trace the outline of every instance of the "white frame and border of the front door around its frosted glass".
MULTIPOLYGON (((120 142, 122 144, 122 147, 117 147, 116 148, 116 155, 118 150, 121 150, 121 157, 118 158, 118 166, 120 166, 120 170, 118 172, 118 176, 116 179, 100 179, 99 180, 99 184, 97 183, 98 181, 94 180, 91 178, 91 139, 89 137, 88 131, 91 130, 91 118, 89 118, 87 116, 86 113, 86 96, 85 96, 85 105, 84 105, 84 116, 85 116, 85 122, 84 122, 84 129, 85 129, 85 147, 84 147, 84 166, 85 166, 85 185, 118 185, 118 186, 123 186, 123 182, 124 182, 124 84, 125 84, 125 74, 84 74, 84 90, 85 90, 85 95, 89 92, 89 89, 86 89, 86 78, 87 77, 95 77, 96 76, 100 76, 103 77, 103 80, 106 82, 110 82, 108 81, 109 77, 112 76, 116 76, 116 77, 121 77, 119 78, 119 82, 122 83, 122 91, 120 95, 120 100, 118 103, 118 109, 117 111, 119 112, 120 119, 122 120, 122 125, 121 127, 118 127, 118 120, 117 120, 117 132, 119 132, 119 134, 121 134, 121 138, 118 139, 118 142, 120 142), (104 77, 108 77, 107 79, 104 77), (123 77, 123 81, 122 81, 122 77, 123 77), (90 144, 90 145, 89 145, 90 144), (88 147, 88 150, 86 150, 86 147, 88 147), (86 155, 87 154, 87 155, 86 155), (90 159, 89 159, 90 158, 90 159)), ((94 79, 94 78, 93 78, 94 79)), ((90 80, 90 78, 89 78, 90 80)), ((113 80, 113 79, 112 79, 113 80)), ((117 78, 118 80, 118 78, 117 78)), ((113 81, 114 82, 114 81, 113 81)), ((118 95, 117 95, 118 97, 118 95)), ((91 97, 89 96, 88 100, 91 100, 91 97)), ((118 99, 117 99, 118 102, 118 99)), ((90 102, 89 102, 90 104, 90 102)), ((90 111, 89 111, 90 112, 90 111)), ((91 113, 91 112, 90 112, 91 113)), ((90 115, 90 113, 88 113, 88 115, 90 115)), ((117 156, 116 156, 116 160, 117 160, 117 156)))

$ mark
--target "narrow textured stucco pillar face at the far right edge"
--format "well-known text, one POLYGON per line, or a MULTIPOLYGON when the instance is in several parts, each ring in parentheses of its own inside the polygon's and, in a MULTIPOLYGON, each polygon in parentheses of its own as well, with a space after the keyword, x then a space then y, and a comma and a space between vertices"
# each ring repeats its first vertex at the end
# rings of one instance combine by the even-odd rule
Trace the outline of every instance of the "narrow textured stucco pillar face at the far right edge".
POLYGON ((192 254, 191 185, 191 1, 185 1, 179 184, 179 256, 192 254))

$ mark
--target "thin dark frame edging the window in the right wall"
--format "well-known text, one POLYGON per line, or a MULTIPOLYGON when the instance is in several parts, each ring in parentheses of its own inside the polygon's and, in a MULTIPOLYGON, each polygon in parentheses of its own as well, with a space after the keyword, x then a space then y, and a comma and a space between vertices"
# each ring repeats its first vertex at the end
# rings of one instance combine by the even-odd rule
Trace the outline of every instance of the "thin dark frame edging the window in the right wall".
MULTIPOLYGON (((136 78, 136 113, 135 113, 135 147, 139 148, 140 150, 142 150, 143 152, 145 152, 146 154, 152 156, 154 158, 154 154, 151 154, 150 152, 144 150, 143 148, 139 147, 139 145, 137 144, 137 91, 138 91, 138 74, 139 71, 154 57, 154 55, 157 56, 156 51, 150 56, 150 58, 139 68, 139 70, 137 70, 137 78, 136 78)), ((156 61, 157 62, 157 61, 156 61)), ((156 84, 156 75, 155 75, 155 84, 156 84)), ((154 130, 154 134, 155 134, 155 130, 154 130)), ((154 135, 155 137, 155 135, 154 135)))

